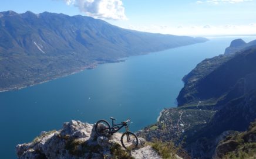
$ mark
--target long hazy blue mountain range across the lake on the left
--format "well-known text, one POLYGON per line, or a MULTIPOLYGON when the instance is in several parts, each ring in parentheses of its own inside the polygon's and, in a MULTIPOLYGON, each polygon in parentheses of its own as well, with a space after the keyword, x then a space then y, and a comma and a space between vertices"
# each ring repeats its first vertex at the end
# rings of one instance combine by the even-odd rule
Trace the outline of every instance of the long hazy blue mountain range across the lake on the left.
POLYGON ((137 32, 80 15, 0 12, 0 91, 206 40, 137 32))

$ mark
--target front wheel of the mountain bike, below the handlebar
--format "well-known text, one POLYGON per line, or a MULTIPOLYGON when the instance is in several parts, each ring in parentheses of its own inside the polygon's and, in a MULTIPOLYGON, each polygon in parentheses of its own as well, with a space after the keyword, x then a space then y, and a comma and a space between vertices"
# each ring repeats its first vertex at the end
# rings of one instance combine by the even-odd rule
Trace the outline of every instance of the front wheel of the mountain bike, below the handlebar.
POLYGON ((121 143, 126 150, 133 150, 139 144, 138 137, 132 132, 125 132, 121 137, 121 143))

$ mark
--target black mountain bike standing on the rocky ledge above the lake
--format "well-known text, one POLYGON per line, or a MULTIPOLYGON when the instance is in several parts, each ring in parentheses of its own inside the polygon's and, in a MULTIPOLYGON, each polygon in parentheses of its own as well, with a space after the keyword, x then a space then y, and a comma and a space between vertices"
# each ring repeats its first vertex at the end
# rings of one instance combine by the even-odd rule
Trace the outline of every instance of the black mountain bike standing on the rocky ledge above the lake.
POLYGON ((112 136, 114 133, 118 132, 122 127, 125 127, 126 132, 121 136, 121 143, 126 150, 132 150, 138 146, 139 140, 136 134, 129 132, 130 119, 121 122, 120 124, 114 124, 113 117, 110 117, 112 120, 112 127, 110 127, 109 122, 106 120, 99 120, 95 125, 95 130, 98 136, 112 136))

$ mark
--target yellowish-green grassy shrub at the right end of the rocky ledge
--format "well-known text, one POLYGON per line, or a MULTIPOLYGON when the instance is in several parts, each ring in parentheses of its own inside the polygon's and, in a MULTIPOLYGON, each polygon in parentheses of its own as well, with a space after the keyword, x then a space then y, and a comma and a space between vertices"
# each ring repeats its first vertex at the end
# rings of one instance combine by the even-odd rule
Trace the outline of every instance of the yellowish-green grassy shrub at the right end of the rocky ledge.
POLYGON ((172 142, 154 141, 150 143, 151 147, 164 159, 176 158, 178 148, 172 142))

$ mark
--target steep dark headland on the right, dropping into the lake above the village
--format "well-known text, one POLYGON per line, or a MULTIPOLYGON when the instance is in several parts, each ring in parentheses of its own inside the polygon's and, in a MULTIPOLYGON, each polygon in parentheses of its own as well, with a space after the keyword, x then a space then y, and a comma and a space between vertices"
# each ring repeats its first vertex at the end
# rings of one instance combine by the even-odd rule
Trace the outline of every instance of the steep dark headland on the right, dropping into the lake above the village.
POLYGON ((177 101, 179 106, 215 104, 235 84, 256 71, 255 47, 237 54, 206 59, 183 78, 177 101))

